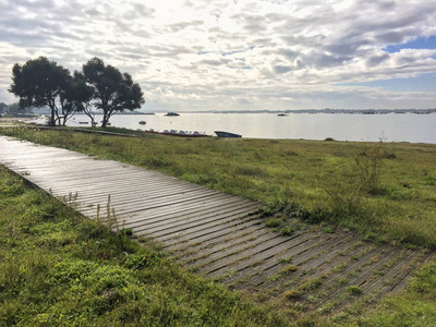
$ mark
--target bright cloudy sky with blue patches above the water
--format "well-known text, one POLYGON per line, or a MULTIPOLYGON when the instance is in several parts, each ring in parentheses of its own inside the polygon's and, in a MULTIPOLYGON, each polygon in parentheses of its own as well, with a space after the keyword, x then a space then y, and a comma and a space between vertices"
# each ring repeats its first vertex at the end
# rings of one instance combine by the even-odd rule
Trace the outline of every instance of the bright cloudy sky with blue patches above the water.
POLYGON ((0 0, 14 63, 129 72, 146 111, 436 108, 436 0, 0 0))

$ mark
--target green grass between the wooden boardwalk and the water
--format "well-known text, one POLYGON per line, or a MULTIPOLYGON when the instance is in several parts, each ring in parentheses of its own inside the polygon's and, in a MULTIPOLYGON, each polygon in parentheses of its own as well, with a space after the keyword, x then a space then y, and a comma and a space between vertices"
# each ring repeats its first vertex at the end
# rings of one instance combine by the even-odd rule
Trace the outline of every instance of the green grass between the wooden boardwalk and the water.
MULTIPOLYGON (((182 138, 144 133, 136 133, 143 137, 117 137, 69 129, 1 129, 0 133, 160 170, 259 201, 287 217, 436 247, 435 145, 182 138), (380 170, 376 182, 364 187, 362 180, 373 181, 373 154, 378 156, 380 170)), ((283 220, 278 230, 287 223, 283 220)))

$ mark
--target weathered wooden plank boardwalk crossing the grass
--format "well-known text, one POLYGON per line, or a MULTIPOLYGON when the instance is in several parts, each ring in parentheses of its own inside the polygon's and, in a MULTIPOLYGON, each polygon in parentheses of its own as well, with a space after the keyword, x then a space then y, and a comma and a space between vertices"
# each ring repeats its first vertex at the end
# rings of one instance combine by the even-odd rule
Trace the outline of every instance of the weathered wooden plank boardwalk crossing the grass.
POLYGON ((281 235, 265 227, 256 214, 259 204, 253 201, 4 136, 0 164, 53 196, 78 194, 74 207, 87 217, 104 219, 107 208, 113 209, 122 228, 159 242, 181 264, 207 277, 238 289, 294 298, 307 310, 327 304, 338 308, 353 303, 358 293, 397 291, 433 255, 311 226, 281 235))

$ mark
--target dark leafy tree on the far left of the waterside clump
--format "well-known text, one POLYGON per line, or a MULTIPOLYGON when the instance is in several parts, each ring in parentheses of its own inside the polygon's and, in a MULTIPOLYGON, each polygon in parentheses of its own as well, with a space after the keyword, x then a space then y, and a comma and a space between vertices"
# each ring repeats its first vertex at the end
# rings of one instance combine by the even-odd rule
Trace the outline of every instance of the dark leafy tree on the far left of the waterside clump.
POLYGON ((60 95, 69 83, 69 70, 49 61, 46 57, 28 60, 12 69, 12 84, 9 92, 20 97, 20 107, 49 107, 51 117, 49 124, 56 125, 59 118, 60 95))

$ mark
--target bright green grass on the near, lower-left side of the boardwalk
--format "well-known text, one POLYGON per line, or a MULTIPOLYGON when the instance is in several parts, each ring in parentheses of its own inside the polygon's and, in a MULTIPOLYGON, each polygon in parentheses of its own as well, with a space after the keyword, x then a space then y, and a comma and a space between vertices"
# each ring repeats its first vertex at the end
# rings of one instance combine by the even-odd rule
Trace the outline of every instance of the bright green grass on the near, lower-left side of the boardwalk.
POLYGON ((284 326, 0 167, 0 326, 284 326))

